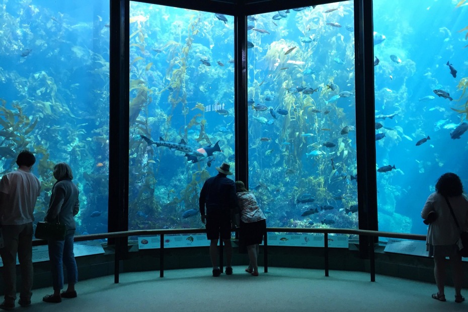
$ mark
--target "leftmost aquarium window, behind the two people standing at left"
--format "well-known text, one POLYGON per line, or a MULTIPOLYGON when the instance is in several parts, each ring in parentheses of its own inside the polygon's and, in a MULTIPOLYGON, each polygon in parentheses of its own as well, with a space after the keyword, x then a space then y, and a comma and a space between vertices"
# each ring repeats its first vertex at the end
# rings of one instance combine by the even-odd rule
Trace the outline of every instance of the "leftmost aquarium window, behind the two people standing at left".
POLYGON ((80 190, 76 234, 107 232, 109 0, 0 1, 0 174, 36 155, 44 219, 56 163, 80 190))

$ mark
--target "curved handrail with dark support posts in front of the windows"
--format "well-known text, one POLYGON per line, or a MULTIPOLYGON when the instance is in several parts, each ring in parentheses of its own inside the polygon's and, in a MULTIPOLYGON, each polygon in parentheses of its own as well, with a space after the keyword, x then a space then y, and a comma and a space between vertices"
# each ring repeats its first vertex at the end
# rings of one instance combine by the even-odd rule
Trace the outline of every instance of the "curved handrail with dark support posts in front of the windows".
MULTIPOLYGON (((364 235, 371 237, 385 237, 407 239, 415 241, 425 241, 425 235, 409 234, 409 233, 396 233, 396 232, 382 232, 365 229, 351 229, 351 228, 305 228, 305 227, 267 227, 264 235, 264 270, 268 272, 268 232, 289 232, 289 233, 322 233, 325 237, 325 276, 329 276, 328 266, 328 235, 329 234, 349 234, 349 235, 364 235)), ((99 233, 90 235, 79 235, 74 237, 74 242, 93 241, 100 239, 118 239, 129 236, 148 236, 148 235, 161 235, 161 252, 160 252, 160 277, 164 277, 164 235, 171 234, 193 234, 193 233, 206 233, 204 228, 178 228, 178 229, 144 229, 144 230, 131 230, 111 233, 99 233)), ((369 260, 370 260, 370 280, 375 281, 375 258, 374 258, 374 244, 373 240, 369 239, 369 260)), ((46 245, 45 240, 33 240, 33 246, 46 245)), ((220 244, 220 268, 222 271, 222 240, 220 244)), ((120 240, 116 240, 116 248, 114 253, 114 282, 119 282, 119 261, 120 261, 120 240)))

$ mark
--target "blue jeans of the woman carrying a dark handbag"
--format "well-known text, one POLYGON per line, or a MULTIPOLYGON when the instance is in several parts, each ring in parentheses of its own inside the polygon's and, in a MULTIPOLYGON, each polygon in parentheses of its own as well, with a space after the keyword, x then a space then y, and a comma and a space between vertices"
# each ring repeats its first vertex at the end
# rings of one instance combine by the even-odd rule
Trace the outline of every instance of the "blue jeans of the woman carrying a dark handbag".
POLYGON ((67 235, 64 241, 48 241, 50 272, 54 290, 63 288, 63 264, 66 267, 68 284, 78 281, 78 269, 73 254, 73 234, 67 235))

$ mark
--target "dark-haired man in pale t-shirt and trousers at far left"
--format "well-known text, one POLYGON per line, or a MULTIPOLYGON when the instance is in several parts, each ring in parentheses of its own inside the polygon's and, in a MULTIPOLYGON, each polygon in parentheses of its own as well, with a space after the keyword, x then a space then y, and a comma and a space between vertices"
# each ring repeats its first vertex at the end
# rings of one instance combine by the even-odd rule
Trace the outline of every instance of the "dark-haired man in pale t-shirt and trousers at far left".
POLYGON ((31 173, 34 154, 23 150, 18 155, 18 170, 0 180, 0 226, 5 247, 0 249, 3 261, 5 301, 0 308, 11 310, 16 300, 16 255, 20 261, 22 285, 21 306, 31 304, 33 285, 32 240, 34 206, 41 192, 39 179, 31 173))

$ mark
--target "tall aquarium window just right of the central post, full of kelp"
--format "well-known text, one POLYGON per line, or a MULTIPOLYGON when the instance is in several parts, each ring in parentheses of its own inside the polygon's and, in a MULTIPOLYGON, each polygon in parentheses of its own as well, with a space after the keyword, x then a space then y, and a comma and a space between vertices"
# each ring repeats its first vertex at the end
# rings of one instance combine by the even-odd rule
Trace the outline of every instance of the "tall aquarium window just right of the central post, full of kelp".
POLYGON ((353 2, 248 24, 249 188, 268 226, 356 228, 353 2))

